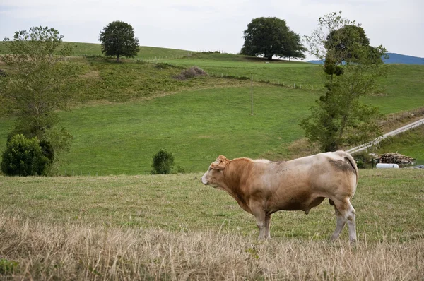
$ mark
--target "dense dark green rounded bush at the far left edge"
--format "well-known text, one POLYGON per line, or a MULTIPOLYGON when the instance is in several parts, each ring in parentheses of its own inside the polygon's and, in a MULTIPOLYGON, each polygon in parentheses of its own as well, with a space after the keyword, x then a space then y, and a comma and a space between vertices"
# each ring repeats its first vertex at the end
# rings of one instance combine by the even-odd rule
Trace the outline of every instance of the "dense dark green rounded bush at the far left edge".
POLYGON ((37 176, 45 174, 48 163, 38 138, 18 134, 6 144, 0 168, 6 176, 37 176))

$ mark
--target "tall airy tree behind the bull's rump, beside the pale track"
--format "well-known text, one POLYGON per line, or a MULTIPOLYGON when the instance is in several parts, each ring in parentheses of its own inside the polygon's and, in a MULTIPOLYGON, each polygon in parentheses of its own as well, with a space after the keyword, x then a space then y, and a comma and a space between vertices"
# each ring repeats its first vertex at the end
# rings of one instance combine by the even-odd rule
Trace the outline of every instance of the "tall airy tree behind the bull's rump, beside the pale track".
POLYGON ((377 121, 382 114, 361 103, 360 97, 378 90, 377 78, 387 73, 381 59, 386 49, 371 47, 363 28, 340 14, 319 18, 319 28, 305 37, 308 51, 325 58, 323 70, 329 82, 300 126, 322 151, 366 143, 381 135, 377 121))

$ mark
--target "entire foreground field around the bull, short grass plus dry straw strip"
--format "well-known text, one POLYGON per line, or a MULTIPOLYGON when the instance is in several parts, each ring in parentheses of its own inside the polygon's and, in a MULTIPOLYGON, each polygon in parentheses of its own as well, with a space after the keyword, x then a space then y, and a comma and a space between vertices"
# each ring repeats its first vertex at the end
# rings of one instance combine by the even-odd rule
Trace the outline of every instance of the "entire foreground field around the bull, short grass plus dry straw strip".
POLYGON ((361 170, 358 244, 334 211, 254 217, 196 174, 0 177, 0 277, 34 280, 420 280, 424 174, 361 170), (4 268, 1 267, 4 265, 4 268), (7 266, 6 266, 7 265, 7 266))

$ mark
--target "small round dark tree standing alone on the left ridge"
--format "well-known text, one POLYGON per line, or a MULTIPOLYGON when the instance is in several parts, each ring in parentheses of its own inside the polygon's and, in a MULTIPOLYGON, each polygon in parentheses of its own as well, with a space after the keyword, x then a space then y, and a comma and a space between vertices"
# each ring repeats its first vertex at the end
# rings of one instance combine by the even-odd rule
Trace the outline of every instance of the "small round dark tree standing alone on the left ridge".
POLYGON ((106 56, 126 56, 132 58, 139 52, 139 40, 134 37, 134 29, 123 21, 112 21, 100 31, 102 53, 106 56))

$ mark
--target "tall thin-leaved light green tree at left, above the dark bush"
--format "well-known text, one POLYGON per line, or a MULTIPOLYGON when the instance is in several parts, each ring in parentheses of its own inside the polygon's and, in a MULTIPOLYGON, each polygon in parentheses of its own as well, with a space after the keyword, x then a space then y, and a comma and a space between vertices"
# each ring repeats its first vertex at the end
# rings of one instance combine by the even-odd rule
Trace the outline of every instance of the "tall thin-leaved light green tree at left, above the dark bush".
POLYGON ((37 137, 52 145, 56 153, 69 149, 71 135, 57 126, 57 109, 65 109, 77 90, 78 65, 65 61, 71 52, 62 44, 63 36, 54 28, 34 27, 4 38, 7 54, 0 61, 8 67, 0 77, 1 112, 17 116, 8 139, 18 133, 37 137), (8 109, 4 109, 7 107, 8 109))

